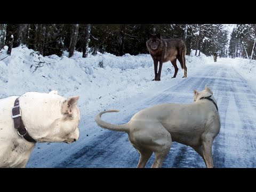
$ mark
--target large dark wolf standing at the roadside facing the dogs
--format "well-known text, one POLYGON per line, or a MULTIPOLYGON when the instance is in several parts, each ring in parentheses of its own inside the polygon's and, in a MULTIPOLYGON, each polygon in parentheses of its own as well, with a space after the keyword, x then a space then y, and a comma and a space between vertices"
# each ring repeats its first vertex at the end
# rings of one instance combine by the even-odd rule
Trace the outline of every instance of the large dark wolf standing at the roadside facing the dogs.
POLYGON ((155 78, 152 81, 161 81, 161 71, 163 62, 171 61, 175 71, 172 78, 175 78, 178 73, 178 67, 176 64, 177 59, 180 62, 180 66, 184 69, 184 76, 187 77, 186 67, 186 45, 182 39, 169 38, 163 39, 161 34, 153 34, 146 42, 148 51, 154 61, 155 78), (159 70, 157 73, 157 66, 159 61, 159 70))

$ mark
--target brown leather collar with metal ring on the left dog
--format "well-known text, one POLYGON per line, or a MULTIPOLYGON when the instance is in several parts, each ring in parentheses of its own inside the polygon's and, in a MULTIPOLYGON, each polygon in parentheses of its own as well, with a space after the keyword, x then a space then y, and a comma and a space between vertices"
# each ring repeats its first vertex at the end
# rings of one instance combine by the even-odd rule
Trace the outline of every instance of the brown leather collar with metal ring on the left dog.
POLYGON ((18 134, 25 138, 29 142, 36 142, 33 138, 28 134, 27 128, 24 126, 21 114, 20 114, 20 106, 19 106, 19 98, 15 99, 14 107, 12 108, 12 118, 14 121, 14 127, 18 130, 18 134))

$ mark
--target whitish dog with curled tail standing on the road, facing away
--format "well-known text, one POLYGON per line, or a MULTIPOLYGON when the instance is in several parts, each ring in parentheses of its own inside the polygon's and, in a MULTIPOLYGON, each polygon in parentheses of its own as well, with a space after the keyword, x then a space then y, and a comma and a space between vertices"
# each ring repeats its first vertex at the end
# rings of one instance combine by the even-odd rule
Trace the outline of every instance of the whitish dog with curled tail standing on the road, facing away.
POLYGON ((164 103, 143 109, 123 125, 102 121, 101 115, 118 110, 102 111, 95 122, 103 128, 128 133, 133 147, 140 153, 137 167, 145 167, 155 153, 151 167, 162 167, 173 141, 192 147, 204 159, 206 167, 213 167, 212 143, 220 131, 220 116, 212 91, 194 90, 194 103, 164 103))

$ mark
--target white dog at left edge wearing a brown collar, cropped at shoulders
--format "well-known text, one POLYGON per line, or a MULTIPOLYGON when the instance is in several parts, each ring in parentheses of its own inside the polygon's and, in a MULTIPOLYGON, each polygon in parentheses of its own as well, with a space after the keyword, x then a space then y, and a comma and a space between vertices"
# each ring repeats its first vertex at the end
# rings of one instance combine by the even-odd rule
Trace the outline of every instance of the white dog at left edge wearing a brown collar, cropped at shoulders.
POLYGON ((63 98, 57 91, 27 92, 18 99, 21 117, 12 113, 18 108, 14 107, 17 98, 0 99, 0 167, 25 167, 36 142, 72 143, 78 139, 79 96, 63 98), (20 118, 21 122, 17 120, 20 118), (14 119, 18 126, 26 127, 24 132, 17 129, 14 119))

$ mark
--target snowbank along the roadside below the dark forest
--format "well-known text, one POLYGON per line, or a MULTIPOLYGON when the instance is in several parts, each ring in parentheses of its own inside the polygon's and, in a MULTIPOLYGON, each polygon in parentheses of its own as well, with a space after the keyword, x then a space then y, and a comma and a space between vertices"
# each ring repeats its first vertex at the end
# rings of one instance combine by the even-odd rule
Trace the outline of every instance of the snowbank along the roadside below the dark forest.
MULTIPOLYGON (((0 52, 0 60, 7 56, 6 52, 7 46, 0 52)), ((195 57, 193 53, 195 51, 186 57, 188 76, 193 76, 198 67, 214 65, 212 57, 202 53, 203 57, 195 57)), ((27 91, 58 90, 63 97, 80 95, 78 106, 83 116, 89 111, 106 109, 109 103, 133 97, 155 86, 155 82, 151 81, 154 78, 154 67, 149 54, 116 57, 109 53, 98 53, 95 56, 89 54, 88 58, 82 58, 81 52, 75 52, 71 58, 67 55, 65 52, 62 57, 42 57, 24 46, 14 48, 10 57, 0 61, 0 98, 21 95, 27 91), (40 61, 42 67, 36 69, 40 61)), ((255 80, 255 62, 233 60, 239 72, 246 74, 243 75, 245 78, 255 80)), ((177 78, 171 81, 173 84, 181 81, 183 76, 178 61, 177 65, 179 71, 177 78)), ((158 85, 170 80, 173 74, 171 62, 164 63, 162 81, 158 85)))

